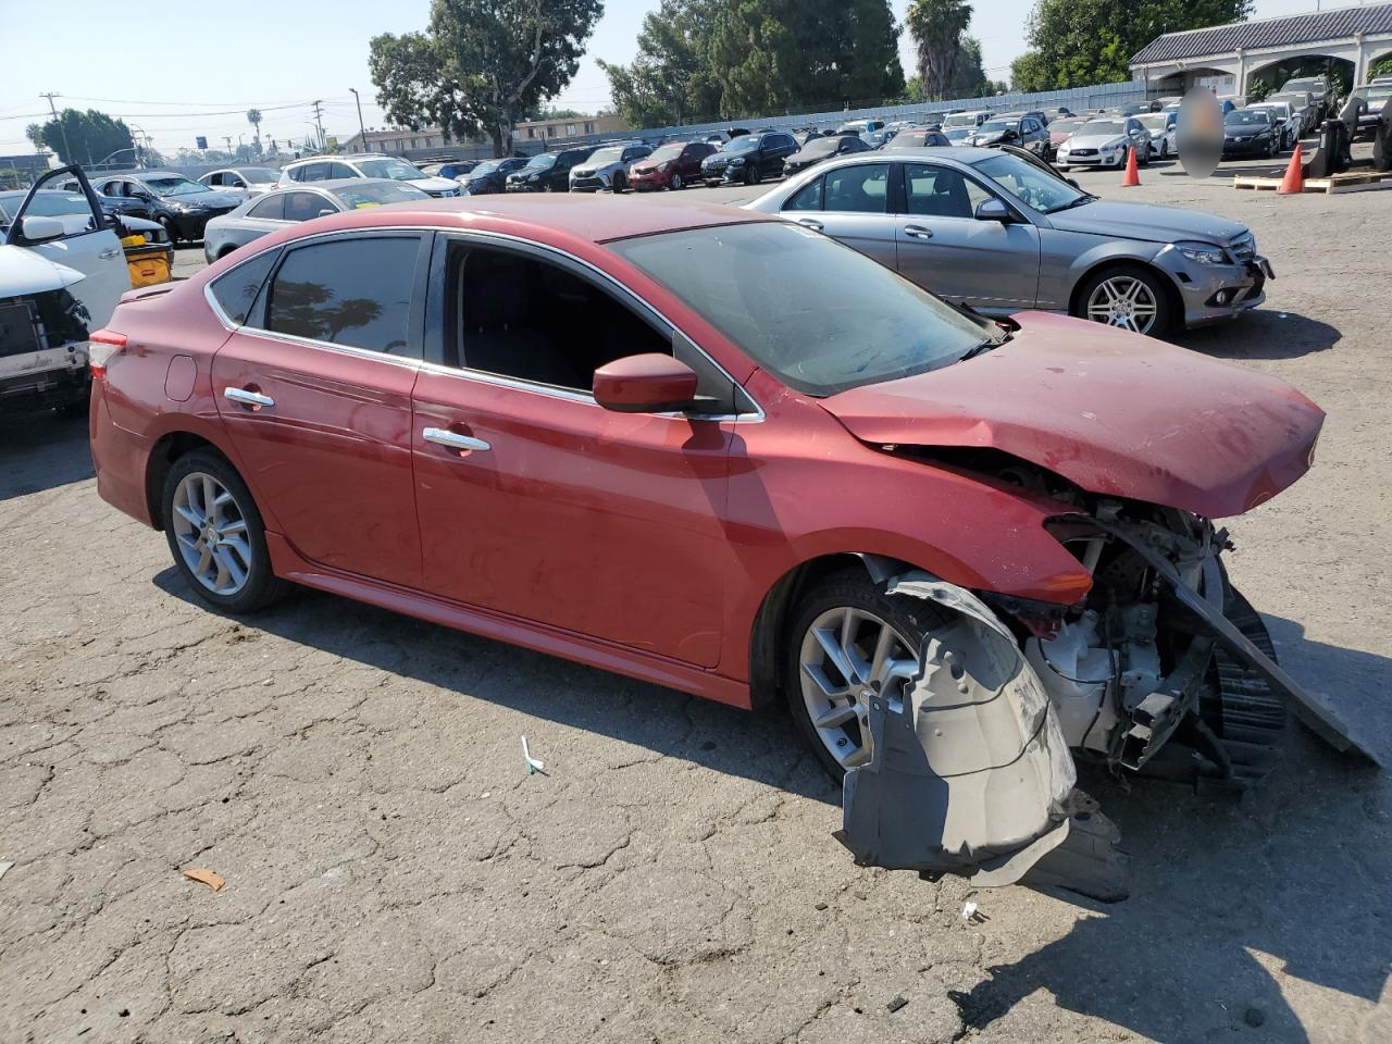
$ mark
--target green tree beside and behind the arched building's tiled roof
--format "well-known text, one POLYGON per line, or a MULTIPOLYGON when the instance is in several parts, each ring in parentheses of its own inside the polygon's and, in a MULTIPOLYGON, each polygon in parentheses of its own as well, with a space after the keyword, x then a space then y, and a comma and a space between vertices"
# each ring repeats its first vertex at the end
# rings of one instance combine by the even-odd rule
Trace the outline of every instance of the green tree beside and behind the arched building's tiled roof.
POLYGON ((1015 60, 1016 90, 1130 78, 1130 58, 1161 33, 1244 19, 1253 0, 1036 0, 1030 50, 1015 60))

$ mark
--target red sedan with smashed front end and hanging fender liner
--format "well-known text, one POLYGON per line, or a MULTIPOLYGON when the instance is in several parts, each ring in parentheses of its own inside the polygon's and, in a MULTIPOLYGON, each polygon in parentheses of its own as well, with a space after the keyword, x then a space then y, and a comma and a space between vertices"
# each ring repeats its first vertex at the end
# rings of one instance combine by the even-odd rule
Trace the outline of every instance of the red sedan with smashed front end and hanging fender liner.
POLYGON ((132 291, 93 341, 97 489, 213 607, 294 582, 784 700, 863 863, 1077 884, 1115 838, 1075 759, 1244 786, 1289 707, 1352 742, 1212 522, 1306 472, 1314 404, 979 319, 780 219, 354 212, 132 291))

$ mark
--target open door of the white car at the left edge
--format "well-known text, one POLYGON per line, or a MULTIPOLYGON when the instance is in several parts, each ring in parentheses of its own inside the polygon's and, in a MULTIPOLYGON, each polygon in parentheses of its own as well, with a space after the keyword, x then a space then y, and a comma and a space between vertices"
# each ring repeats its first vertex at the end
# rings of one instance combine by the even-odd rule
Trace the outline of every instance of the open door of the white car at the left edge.
POLYGON ((11 221, 10 230, 6 232, 6 242, 24 246, 85 276, 81 283, 68 287, 68 292, 86 312, 82 319, 88 331, 106 326, 121 299, 121 294, 131 288, 131 270, 125 263, 121 238, 107 224, 96 193, 88 184, 86 175, 77 167, 49 171, 35 182, 33 189, 15 212, 15 220, 11 221), (86 213, 54 219, 60 220, 65 228, 61 237, 42 242, 25 237, 24 219, 32 209, 35 192, 54 188, 60 180, 74 174, 78 175, 78 187, 88 202, 86 213))

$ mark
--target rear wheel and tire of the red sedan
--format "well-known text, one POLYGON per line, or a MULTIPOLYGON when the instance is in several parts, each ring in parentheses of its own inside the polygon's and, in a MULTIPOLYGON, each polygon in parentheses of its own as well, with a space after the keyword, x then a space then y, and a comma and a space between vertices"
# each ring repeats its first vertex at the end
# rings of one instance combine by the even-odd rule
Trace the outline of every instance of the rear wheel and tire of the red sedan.
POLYGON ((260 511, 224 457, 207 450, 180 457, 160 504, 174 568, 203 601, 255 612, 280 596, 260 511))

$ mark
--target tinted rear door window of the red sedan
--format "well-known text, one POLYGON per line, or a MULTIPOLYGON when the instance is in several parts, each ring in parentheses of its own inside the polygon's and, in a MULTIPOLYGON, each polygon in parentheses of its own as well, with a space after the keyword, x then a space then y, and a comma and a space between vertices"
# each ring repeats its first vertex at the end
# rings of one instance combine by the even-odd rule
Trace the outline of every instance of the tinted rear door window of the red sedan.
POLYGON ((419 235, 358 235, 296 246, 271 278, 266 329, 419 358, 411 326, 419 258, 419 235))

